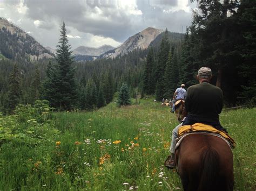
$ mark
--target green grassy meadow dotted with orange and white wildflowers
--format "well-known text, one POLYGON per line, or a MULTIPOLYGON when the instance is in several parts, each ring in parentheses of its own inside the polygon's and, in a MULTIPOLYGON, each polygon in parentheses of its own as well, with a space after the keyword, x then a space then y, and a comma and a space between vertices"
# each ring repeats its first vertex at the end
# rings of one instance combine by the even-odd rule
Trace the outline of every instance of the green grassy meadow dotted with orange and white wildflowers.
MULTIPOLYGON (((221 114, 237 142, 234 190, 256 188, 255 116, 256 108, 221 114)), ((0 190, 182 189, 177 173, 163 166, 178 122, 160 103, 142 100, 126 108, 109 104, 94 112, 58 112, 47 123, 26 119, 16 124, 15 118, 9 123, 0 118, 2 132, 6 124, 33 131, 33 136, 2 143, 0 190)))

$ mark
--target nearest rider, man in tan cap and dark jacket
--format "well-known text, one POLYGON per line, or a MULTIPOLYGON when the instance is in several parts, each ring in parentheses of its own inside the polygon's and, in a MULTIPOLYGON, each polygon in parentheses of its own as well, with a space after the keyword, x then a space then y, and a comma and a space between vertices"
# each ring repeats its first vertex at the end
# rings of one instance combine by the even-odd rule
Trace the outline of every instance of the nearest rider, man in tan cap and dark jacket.
POLYGON ((210 84, 212 78, 211 68, 202 67, 198 70, 197 80, 199 84, 187 89, 185 108, 188 113, 184 121, 172 131, 171 155, 166 159, 165 166, 174 168, 174 153, 178 129, 182 125, 204 123, 214 126, 218 130, 226 131, 219 122, 219 114, 223 108, 223 91, 210 84))

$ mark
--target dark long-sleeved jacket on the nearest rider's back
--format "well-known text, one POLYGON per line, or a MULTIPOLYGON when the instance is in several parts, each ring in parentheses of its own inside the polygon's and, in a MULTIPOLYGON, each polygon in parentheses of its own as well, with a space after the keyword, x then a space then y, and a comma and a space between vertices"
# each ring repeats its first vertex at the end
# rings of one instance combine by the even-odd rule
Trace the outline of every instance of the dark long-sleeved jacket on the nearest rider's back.
POLYGON ((188 115, 199 121, 219 121, 223 108, 223 91, 207 82, 191 86, 187 89, 185 108, 188 115))

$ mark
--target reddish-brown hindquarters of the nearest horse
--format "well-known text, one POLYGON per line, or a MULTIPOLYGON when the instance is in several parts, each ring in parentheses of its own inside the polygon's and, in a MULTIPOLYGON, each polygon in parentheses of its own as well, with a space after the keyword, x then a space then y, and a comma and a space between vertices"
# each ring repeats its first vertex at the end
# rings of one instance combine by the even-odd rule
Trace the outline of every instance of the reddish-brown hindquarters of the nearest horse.
POLYGON ((185 191, 233 190, 233 154, 220 137, 187 135, 176 150, 175 163, 185 191))

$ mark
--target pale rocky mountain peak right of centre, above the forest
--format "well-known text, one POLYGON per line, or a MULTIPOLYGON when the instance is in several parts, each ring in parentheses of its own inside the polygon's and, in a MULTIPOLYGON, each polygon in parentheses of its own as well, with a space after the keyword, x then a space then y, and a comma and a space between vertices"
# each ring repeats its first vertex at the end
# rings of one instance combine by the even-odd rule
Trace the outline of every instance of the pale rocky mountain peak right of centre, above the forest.
POLYGON ((134 34, 129 37, 122 45, 114 49, 114 51, 109 51, 103 54, 103 57, 114 58, 117 55, 127 54, 136 48, 146 49, 150 43, 156 39, 156 37, 162 33, 164 30, 154 29, 152 27, 147 27, 147 29, 134 34))

